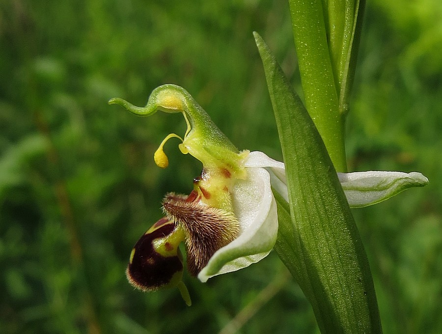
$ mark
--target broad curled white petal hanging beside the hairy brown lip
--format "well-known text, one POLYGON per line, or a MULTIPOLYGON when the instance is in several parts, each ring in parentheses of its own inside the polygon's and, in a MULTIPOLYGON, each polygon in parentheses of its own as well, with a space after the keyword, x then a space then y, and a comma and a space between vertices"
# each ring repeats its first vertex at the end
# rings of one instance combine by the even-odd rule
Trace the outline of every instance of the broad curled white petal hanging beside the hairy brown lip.
POLYGON ((263 168, 248 168, 247 174, 247 180, 239 180, 232 193, 240 235, 211 257, 198 274, 201 282, 257 262, 275 245, 278 221, 270 175, 263 168))

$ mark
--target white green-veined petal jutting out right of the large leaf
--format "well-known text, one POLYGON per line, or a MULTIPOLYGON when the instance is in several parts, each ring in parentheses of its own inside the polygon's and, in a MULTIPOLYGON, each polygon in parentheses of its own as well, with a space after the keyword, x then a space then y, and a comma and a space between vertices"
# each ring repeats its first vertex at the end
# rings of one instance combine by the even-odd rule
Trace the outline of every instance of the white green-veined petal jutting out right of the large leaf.
POLYGON ((428 179, 417 172, 338 173, 338 178, 351 207, 376 204, 407 188, 428 184, 428 179))

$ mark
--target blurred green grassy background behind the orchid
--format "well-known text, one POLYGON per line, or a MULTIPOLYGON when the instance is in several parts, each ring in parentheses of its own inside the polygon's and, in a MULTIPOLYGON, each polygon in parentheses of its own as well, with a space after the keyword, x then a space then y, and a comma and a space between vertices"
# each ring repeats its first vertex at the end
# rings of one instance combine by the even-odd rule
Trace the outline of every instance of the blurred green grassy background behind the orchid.
MULTIPOLYGON (((1 333, 225 334, 232 319, 244 334, 319 333, 275 254, 204 284, 186 276, 190 308, 177 289, 141 293, 124 275, 163 195, 189 193, 201 166, 174 140, 169 167, 154 164, 182 117, 107 101, 144 105, 179 84, 240 149, 280 159, 253 30, 300 91, 284 0, 1 1, 1 333)), ((354 210, 385 333, 442 333, 441 45, 440 0, 368 1, 350 170, 430 179, 354 210)))

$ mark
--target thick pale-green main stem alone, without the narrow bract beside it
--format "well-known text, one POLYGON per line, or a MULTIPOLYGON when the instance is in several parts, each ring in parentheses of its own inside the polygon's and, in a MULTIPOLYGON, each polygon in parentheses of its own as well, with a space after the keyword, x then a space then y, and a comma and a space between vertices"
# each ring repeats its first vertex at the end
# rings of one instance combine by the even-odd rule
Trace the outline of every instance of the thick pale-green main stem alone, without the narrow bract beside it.
POLYGON ((332 70, 321 0, 289 0, 305 106, 338 172, 347 171, 345 119, 332 70))

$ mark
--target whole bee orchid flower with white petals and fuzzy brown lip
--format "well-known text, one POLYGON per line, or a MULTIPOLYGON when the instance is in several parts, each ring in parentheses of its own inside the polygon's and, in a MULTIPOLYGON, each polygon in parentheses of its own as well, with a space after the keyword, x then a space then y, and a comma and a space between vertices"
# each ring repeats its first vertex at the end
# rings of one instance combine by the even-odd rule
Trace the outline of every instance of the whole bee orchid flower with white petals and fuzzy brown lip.
MULTIPOLYGON (((186 244, 187 268, 201 282, 245 268, 266 257, 276 242, 278 218, 272 188, 288 202, 282 162, 262 152, 239 151, 212 122, 207 113, 182 87, 166 84, 156 88, 145 107, 114 98, 139 116, 161 110, 181 112, 186 120, 184 137, 171 133, 154 154, 166 168, 163 151, 172 137, 182 143, 183 154, 201 161, 201 175, 186 195, 169 193, 163 202, 165 217, 156 222, 134 246, 126 274, 143 291, 178 286, 188 305, 190 297, 182 283, 183 260, 178 246, 186 244)), ((350 206, 383 201, 428 180, 420 173, 338 173, 350 206)))

